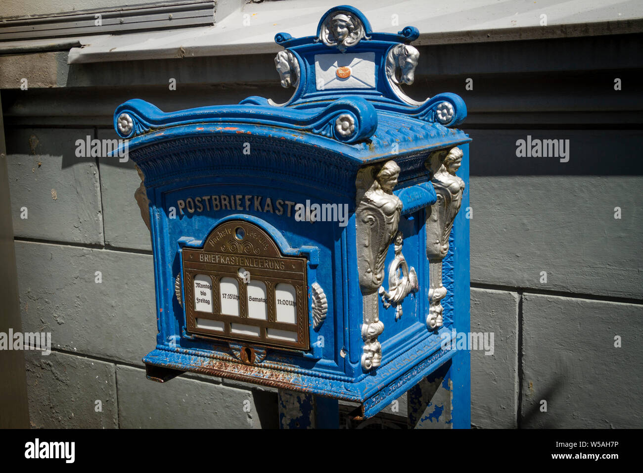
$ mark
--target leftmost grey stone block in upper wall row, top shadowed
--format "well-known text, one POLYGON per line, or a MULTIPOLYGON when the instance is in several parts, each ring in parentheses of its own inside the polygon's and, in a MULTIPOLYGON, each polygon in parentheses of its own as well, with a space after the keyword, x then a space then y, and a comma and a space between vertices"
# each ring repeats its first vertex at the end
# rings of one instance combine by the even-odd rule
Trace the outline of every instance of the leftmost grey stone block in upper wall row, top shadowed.
POLYGON ((93 129, 7 131, 15 236, 102 245, 96 158, 76 156, 77 140, 93 129))

